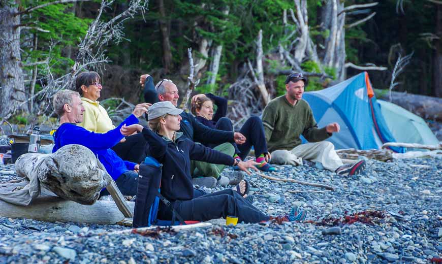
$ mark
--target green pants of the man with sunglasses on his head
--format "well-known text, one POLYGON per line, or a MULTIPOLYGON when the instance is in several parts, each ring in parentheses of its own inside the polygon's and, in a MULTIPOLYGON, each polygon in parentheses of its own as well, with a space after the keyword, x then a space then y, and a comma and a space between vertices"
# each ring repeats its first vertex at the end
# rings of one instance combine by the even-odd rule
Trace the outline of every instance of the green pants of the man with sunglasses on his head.
MULTIPOLYGON (((223 152, 229 156, 235 154, 235 148, 230 143, 224 143, 213 148, 219 152, 223 152)), ((191 172, 192 177, 215 177, 219 178, 221 172, 226 168, 226 165, 222 164, 212 164, 204 161, 192 160, 191 161, 191 172)))

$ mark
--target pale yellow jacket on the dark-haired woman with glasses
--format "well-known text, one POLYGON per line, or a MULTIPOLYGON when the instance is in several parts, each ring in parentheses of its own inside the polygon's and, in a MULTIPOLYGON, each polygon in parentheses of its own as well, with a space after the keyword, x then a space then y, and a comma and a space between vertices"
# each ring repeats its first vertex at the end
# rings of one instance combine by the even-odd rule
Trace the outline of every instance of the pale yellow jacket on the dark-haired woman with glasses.
POLYGON ((85 97, 81 97, 81 101, 85 111, 83 113, 83 122, 77 125, 95 133, 106 133, 115 128, 106 109, 100 105, 100 102, 92 101, 85 97))

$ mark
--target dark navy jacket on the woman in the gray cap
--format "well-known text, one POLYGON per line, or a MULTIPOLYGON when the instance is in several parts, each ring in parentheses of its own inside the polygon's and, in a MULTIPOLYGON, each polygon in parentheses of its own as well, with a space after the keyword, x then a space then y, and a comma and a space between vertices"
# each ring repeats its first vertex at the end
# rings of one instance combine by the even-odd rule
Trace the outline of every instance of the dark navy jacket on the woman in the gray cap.
POLYGON ((143 128, 141 133, 148 143, 146 154, 163 163, 161 193, 171 202, 193 199, 191 159, 227 166, 234 162, 233 157, 195 144, 181 137, 181 133, 177 133, 175 142, 162 138, 147 128, 143 128))

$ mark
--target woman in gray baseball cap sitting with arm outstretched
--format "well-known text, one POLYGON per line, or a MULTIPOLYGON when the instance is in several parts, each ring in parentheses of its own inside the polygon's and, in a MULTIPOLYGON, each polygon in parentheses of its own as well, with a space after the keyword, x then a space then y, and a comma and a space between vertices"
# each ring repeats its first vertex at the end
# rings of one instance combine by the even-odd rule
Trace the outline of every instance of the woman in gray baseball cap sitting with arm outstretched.
MULTIPOLYGON (((182 133, 177 132, 180 128, 181 116, 179 114, 181 112, 181 109, 175 108, 169 101, 155 103, 149 107, 147 112, 150 129, 139 124, 121 128, 123 135, 141 131, 147 141, 147 156, 151 156, 163 164, 161 193, 171 202, 176 212, 185 220, 196 221, 226 218, 228 215, 237 216, 239 222, 246 223, 257 223, 271 219, 233 189, 194 197, 191 159, 238 166, 249 175, 248 169, 258 171, 255 167, 258 163, 252 160, 239 161, 232 156, 181 137, 182 133)), ((162 203, 160 203, 158 214, 159 219, 172 219, 172 212, 162 203)), ((286 217, 287 221, 303 220, 305 212, 296 208, 286 217)))

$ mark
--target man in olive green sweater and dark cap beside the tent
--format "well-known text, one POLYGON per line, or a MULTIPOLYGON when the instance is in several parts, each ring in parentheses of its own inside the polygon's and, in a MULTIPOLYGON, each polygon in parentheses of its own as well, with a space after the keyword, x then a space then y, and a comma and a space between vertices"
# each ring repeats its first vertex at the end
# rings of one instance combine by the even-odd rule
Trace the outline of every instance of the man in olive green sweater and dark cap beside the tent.
POLYGON ((272 162, 298 165, 301 157, 321 162, 323 167, 339 175, 354 175, 363 171, 363 160, 343 165, 334 146, 323 141, 339 132, 336 122, 318 128, 313 112, 302 100, 307 79, 302 73, 294 73, 286 79, 286 94, 274 98, 264 109, 263 125, 272 162), (311 143, 302 144, 300 135, 311 143))

